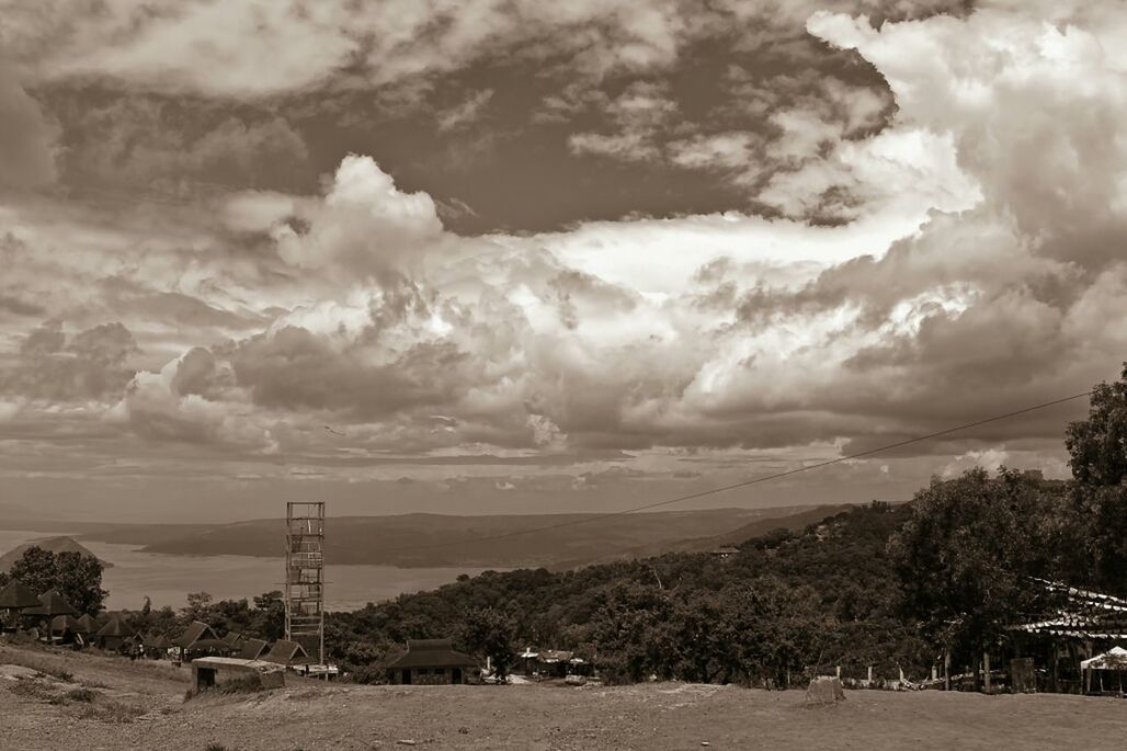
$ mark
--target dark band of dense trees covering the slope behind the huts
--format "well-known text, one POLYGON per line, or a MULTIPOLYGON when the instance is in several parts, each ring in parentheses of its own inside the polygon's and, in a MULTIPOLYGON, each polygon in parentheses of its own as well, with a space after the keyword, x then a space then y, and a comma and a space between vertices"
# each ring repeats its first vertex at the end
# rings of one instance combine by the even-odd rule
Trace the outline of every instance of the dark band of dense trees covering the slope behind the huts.
MULTIPOLYGON (((329 613, 327 650, 369 682, 383 680, 383 662, 406 639, 435 637, 490 656, 499 674, 518 650, 539 646, 574 651, 616 682, 784 686, 837 666, 845 677, 871 666, 922 678, 944 652, 970 664, 1010 638, 1008 626, 1046 607, 1039 578, 1127 595, 1127 365, 1119 381, 1095 387, 1065 448, 1072 480, 974 469, 934 478, 908 503, 873 502, 747 540, 727 558, 463 575, 329 613)), ((52 564, 43 553, 29 550, 12 574, 56 586, 86 611, 100 607, 100 564, 63 563, 70 554, 52 564)), ((179 611, 126 617, 170 636, 190 620, 267 640, 284 626, 279 592, 252 602, 196 593, 179 611)))

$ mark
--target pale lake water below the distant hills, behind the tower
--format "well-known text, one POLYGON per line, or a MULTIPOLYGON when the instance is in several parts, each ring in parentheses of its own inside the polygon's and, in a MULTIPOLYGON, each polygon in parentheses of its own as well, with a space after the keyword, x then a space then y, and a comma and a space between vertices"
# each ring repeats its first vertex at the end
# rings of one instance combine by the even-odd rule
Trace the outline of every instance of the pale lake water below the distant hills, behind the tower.
MULTIPOLYGON (((63 532, 0 530, 0 555, 18 545, 63 532)), ((74 537, 71 534, 70 537, 74 537)), ((180 556, 142 553, 132 545, 79 540, 96 556, 109 562, 101 585, 109 591, 110 610, 137 610, 145 595, 154 608, 184 607, 188 592, 207 592, 215 600, 250 600, 256 594, 281 590, 285 576, 282 558, 251 556, 180 556)), ((326 607, 355 610, 369 602, 388 600, 405 592, 431 590, 453 582, 459 574, 476 576, 483 568, 397 568, 394 566, 326 566, 326 607)), ((496 569, 502 571, 502 569, 496 569)))

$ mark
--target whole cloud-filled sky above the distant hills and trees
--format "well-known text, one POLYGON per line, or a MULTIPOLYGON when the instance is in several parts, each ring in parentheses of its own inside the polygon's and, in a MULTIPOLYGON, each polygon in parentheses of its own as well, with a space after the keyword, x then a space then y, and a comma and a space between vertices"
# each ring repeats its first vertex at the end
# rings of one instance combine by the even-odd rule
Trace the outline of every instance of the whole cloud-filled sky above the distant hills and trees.
MULTIPOLYGON (((0 0, 0 507, 615 511, 1127 360, 1119 0, 0 0)), ((671 506, 1066 477, 1083 400, 671 506)))

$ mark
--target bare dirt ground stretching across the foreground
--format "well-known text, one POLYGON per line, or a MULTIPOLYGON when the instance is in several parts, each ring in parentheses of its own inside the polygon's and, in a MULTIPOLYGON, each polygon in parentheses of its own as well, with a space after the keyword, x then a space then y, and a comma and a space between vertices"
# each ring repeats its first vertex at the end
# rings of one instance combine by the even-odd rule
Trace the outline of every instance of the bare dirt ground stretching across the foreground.
POLYGON ((1075 696, 645 686, 338 686, 185 700, 167 664, 0 647, 3 748, 1127 749, 1127 701, 1075 696), (29 666, 32 670, 27 670, 29 666), (43 671, 43 672, 34 672, 43 671), (53 674, 51 674, 53 673, 53 674))

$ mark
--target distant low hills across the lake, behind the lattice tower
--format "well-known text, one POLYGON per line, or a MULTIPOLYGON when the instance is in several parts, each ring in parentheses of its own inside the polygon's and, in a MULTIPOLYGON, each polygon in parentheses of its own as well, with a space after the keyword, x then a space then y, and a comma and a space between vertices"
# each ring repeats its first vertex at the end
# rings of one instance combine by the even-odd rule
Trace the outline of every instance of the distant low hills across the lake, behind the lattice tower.
MULTIPOLYGON (((787 525, 787 518, 809 513, 811 506, 667 511, 606 518, 598 514, 336 516, 326 522, 326 562, 399 567, 568 568, 680 549, 686 540, 711 539, 739 528, 773 529, 787 525)), ((827 511, 816 513, 824 516, 827 511)), ((89 532, 81 539, 143 545, 147 553, 276 557, 283 555, 284 534, 282 520, 257 520, 215 525, 121 527, 89 532)))

